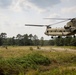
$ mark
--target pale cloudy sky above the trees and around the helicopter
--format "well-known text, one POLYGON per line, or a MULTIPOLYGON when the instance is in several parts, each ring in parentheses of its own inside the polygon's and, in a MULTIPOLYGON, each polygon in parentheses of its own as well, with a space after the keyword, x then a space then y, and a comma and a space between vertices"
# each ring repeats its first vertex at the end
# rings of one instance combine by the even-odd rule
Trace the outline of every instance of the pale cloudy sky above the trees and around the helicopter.
MULTIPOLYGON (((25 24, 52 24, 57 20, 44 18, 75 18, 76 0, 0 0, 0 33, 8 37, 33 34, 50 39, 44 34, 46 27, 26 27, 25 24)), ((52 27, 63 27, 60 23, 52 27)))

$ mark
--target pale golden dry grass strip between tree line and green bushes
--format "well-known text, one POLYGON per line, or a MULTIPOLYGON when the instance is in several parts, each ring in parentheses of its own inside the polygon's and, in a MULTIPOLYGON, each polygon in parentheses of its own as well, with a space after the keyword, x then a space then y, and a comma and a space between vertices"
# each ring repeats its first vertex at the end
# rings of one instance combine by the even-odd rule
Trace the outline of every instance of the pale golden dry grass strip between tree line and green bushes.
POLYGON ((0 47, 0 57, 3 57, 3 58, 20 57, 32 52, 39 52, 50 58, 57 58, 61 56, 67 57, 67 56, 76 55, 76 51, 70 52, 68 51, 68 48, 66 50, 66 48, 64 47, 45 46, 45 47, 40 47, 40 49, 37 49, 36 46, 14 46, 14 47, 8 46, 8 49, 4 47, 0 47), (31 50, 30 47, 33 50, 31 50), (61 50, 58 50, 58 49, 61 49, 61 50))

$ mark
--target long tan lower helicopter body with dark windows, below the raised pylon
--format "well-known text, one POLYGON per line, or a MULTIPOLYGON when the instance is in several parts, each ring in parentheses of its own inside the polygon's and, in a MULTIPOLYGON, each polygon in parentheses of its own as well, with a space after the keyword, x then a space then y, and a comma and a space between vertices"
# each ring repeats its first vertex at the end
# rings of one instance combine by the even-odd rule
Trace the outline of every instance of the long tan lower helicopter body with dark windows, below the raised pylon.
POLYGON ((76 34, 76 29, 73 28, 47 28, 45 34, 48 36, 69 36, 76 34))

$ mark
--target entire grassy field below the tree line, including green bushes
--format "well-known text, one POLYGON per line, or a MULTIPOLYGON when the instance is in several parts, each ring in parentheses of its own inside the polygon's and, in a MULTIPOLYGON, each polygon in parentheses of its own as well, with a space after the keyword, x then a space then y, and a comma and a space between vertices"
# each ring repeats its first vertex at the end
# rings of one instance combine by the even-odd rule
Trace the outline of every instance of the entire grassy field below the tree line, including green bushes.
POLYGON ((0 47, 0 75, 76 75, 76 47, 0 47))

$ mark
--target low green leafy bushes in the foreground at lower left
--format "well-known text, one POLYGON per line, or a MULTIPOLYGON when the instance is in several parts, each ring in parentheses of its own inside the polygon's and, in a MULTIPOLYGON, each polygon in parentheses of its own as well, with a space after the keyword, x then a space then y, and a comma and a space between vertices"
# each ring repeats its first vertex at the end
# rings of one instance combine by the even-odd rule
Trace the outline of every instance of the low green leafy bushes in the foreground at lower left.
POLYGON ((0 75, 18 75, 26 72, 27 69, 38 69, 38 65, 49 65, 50 60, 38 53, 28 54, 20 58, 0 60, 0 75))

